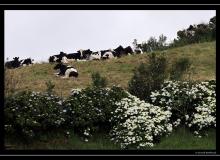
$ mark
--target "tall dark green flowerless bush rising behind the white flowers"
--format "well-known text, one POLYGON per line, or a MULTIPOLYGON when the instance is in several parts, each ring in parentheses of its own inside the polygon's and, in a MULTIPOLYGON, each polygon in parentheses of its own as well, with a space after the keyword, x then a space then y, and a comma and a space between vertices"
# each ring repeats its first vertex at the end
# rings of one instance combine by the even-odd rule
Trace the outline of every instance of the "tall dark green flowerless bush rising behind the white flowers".
POLYGON ((167 61, 161 55, 156 57, 155 53, 149 55, 149 63, 141 64, 134 72, 134 76, 128 84, 128 90, 132 95, 141 100, 150 100, 150 94, 158 90, 163 84, 166 73, 167 61))

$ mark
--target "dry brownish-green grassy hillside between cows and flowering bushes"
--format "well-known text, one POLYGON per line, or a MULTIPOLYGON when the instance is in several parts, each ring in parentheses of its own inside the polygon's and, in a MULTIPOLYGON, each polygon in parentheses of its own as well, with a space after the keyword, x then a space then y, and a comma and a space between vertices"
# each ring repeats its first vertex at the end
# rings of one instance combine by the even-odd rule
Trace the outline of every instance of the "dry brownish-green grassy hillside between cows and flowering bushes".
MULTIPOLYGON (((184 47, 162 51, 166 53, 169 64, 180 57, 189 57, 192 61, 194 80, 215 79, 216 72, 216 42, 192 44, 184 47)), ((160 52, 157 52, 160 53, 160 52)), ((55 64, 35 64, 29 67, 21 67, 6 70, 5 82, 13 81, 13 87, 17 90, 44 91, 45 82, 51 80, 55 84, 55 91, 59 96, 68 96, 72 88, 84 88, 91 84, 91 73, 100 72, 108 80, 108 85, 120 85, 127 88, 128 81, 133 75, 134 69, 142 62, 147 62, 147 54, 131 55, 119 59, 106 61, 72 62, 79 71, 77 79, 62 79, 56 77, 53 70, 55 64), (13 77, 12 80, 9 77, 13 77)))

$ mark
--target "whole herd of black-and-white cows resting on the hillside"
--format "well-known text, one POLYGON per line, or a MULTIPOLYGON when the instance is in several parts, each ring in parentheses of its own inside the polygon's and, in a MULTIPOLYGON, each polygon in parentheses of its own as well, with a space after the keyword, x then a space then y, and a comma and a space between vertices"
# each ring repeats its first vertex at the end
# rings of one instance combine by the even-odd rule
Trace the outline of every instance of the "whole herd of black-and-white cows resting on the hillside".
MULTIPOLYGON (((101 50, 98 52, 93 52, 90 49, 88 50, 79 50, 76 53, 64 53, 60 52, 59 55, 53 55, 49 57, 49 63, 58 62, 55 65, 54 70, 58 70, 58 73, 55 73, 57 76, 62 76, 62 78, 68 77, 78 77, 78 71, 70 65, 65 65, 64 63, 69 63, 71 61, 88 61, 88 60, 101 60, 101 59, 112 59, 119 58, 124 55, 131 54, 142 54, 140 48, 132 49, 130 46, 123 48, 121 45, 116 49, 101 50)), ((19 60, 19 57, 14 57, 12 61, 5 63, 5 67, 8 69, 18 68, 20 66, 28 66, 33 64, 33 59, 28 58, 24 60, 19 60)))

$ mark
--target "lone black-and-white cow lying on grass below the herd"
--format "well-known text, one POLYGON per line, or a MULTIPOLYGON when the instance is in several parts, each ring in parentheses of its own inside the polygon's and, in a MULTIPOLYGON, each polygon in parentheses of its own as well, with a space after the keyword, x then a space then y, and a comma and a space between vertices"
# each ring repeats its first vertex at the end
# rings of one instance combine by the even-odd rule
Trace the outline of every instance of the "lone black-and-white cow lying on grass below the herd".
POLYGON ((57 76, 63 76, 62 78, 68 77, 78 77, 78 71, 72 66, 66 66, 62 63, 58 63, 55 67, 55 70, 59 69, 59 73, 55 73, 57 76))

